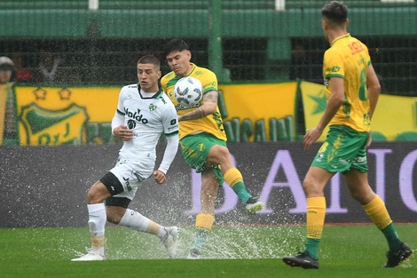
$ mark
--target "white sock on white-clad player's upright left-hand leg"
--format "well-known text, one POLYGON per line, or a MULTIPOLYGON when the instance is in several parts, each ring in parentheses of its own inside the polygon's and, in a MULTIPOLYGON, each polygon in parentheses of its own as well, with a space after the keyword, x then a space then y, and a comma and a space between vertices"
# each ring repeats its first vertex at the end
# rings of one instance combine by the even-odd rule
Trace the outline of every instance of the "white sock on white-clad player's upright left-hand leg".
POLYGON ((104 203, 88 204, 91 249, 105 255, 106 208, 104 203))

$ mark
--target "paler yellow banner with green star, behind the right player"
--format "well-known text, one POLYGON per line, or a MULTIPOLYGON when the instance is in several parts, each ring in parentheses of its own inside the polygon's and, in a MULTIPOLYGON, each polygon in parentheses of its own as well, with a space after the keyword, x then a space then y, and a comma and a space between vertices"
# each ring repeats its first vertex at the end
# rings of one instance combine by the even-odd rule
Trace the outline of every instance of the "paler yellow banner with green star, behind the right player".
MULTIPOLYGON (((305 127, 311 129, 319 123, 326 109, 326 91, 324 85, 317 83, 301 83, 305 127)), ((417 140, 416 125, 417 99, 380 95, 372 119, 374 141, 417 140)), ((319 141, 326 139, 328 128, 319 141)))

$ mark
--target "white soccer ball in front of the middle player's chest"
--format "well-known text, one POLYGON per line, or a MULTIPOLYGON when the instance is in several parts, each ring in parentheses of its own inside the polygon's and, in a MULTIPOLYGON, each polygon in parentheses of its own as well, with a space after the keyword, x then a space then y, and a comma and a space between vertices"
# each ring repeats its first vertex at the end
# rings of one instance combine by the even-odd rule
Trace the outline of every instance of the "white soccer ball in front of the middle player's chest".
POLYGON ((178 80, 174 88, 175 98, 184 107, 197 106, 202 99, 202 84, 192 76, 185 76, 178 80))

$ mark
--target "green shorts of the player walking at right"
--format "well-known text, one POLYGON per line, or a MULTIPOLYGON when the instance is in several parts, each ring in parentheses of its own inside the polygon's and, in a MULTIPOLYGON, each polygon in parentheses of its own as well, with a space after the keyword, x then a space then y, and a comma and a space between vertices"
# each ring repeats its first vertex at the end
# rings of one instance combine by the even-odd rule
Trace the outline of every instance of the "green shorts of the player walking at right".
POLYGON ((351 168, 367 172, 368 138, 369 132, 358 132, 344 125, 332 125, 311 166, 330 172, 344 172, 351 168))

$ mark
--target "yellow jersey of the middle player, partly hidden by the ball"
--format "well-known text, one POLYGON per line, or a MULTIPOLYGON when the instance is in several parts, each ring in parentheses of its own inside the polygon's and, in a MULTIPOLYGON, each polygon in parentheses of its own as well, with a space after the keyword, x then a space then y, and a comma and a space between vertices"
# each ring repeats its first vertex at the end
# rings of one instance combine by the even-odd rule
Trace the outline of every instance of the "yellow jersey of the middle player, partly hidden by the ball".
MULTIPOLYGON (((208 91, 217 91, 217 77, 215 73, 213 73, 208 68, 201 68, 195 64, 192 65, 193 69, 188 75, 200 80, 204 89, 204 93, 208 91)), ((162 90, 167 93, 169 99, 171 99, 171 101, 174 103, 177 109, 177 114, 184 115, 185 113, 198 107, 185 108, 179 105, 174 93, 175 84, 179 79, 181 79, 181 77, 178 77, 173 71, 171 71, 161 78, 161 86, 162 90)), ((189 134, 196 134, 199 132, 207 132, 216 136, 218 139, 223 139, 224 141, 227 140, 226 134, 224 132, 222 115, 220 115, 220 110, 218 107, 216 108, 215 114, 207 115, 200 119, 179 123, 179 139, 182 139, 189 134)))

